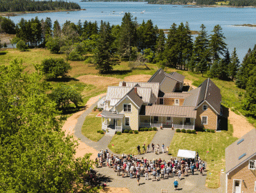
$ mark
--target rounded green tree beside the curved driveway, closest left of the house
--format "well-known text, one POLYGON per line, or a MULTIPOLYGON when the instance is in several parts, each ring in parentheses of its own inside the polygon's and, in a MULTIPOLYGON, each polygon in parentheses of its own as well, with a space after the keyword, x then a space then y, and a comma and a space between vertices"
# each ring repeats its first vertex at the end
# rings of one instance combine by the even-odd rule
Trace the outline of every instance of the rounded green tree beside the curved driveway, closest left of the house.
POLYGON ((57 104, 57 108, 66 108, 69 103, 75 104, 75 108, 82 102, 82 96, 77 92, 76 88, 69 85, 60 85, 51 93, 51 99, 57 104))

